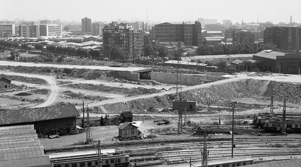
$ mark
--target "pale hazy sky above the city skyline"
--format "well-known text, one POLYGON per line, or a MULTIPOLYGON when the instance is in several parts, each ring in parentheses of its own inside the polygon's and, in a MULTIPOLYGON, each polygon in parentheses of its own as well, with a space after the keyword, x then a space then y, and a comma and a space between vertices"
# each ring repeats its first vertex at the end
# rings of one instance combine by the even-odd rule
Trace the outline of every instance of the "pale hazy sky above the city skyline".
POLYGON ((149 20, 158 22, 215 18, 218 22, 280 21, 301 23, 301 0, 0 0, 0 20, 81 21, 149 20))

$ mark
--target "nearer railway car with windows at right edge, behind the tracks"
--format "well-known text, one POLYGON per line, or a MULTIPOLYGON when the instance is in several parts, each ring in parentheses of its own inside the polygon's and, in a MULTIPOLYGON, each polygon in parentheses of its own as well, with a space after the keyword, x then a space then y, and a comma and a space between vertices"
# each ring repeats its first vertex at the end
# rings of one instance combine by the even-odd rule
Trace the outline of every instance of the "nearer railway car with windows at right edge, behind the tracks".
MULTIPOLYGON (((266 131, 281 131, 282 119, 266 120, 263 129, 266 131)), ((286 119, 286 132, 301 132, 301 119, 286 119)))

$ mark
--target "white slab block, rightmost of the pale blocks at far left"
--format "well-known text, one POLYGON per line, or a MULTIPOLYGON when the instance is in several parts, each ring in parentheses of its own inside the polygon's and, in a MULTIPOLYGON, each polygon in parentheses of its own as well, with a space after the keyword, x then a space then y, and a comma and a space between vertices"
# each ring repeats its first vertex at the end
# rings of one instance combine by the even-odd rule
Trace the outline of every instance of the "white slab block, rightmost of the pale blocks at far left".
POLYGON ((40 36, 60 36, 62 35, 62 25, 40 24, 40 36))

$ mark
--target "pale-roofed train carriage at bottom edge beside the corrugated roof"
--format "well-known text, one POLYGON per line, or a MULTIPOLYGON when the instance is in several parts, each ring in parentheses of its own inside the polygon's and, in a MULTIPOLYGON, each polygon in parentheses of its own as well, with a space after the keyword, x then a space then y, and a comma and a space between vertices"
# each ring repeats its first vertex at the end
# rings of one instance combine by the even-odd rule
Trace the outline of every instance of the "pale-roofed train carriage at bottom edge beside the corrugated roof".
MULTIPOLYGON (((98 166, 98 156, 95 150, 80 152, 62 152, 49 154, 53 167, 85 167, 98 166)), ((129 166, 129 155, 118 153, 113 149, 101 150, 101 161, 103 167, 125 167, 129 166)))

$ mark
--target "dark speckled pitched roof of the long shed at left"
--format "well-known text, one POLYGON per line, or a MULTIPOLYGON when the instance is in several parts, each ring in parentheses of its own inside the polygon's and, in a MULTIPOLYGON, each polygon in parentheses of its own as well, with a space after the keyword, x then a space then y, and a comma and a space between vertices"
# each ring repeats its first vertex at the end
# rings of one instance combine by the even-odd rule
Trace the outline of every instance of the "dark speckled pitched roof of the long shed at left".
POLYGON ((0 125, 74 117, 80 114, 73 104, 0 112, 0 125))

